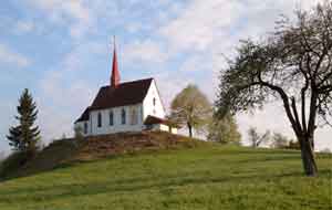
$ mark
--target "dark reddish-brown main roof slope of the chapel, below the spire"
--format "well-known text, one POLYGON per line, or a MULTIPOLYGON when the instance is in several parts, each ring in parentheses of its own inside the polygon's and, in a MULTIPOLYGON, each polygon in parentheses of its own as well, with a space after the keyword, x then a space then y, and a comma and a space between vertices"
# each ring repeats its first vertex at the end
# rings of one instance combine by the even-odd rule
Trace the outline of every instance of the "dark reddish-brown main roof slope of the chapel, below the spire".
POLYGON ((153 78, 120 83, 116 87, 103 86, 90 106, 90 111, 142 103, 153 78))

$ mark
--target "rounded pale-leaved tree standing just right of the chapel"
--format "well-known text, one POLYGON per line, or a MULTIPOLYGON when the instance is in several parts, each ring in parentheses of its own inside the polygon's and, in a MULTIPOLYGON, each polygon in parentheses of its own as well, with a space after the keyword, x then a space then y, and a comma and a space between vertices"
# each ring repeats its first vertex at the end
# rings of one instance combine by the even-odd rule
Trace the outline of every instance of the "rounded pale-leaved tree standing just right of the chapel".
POLYGON ((211 115, 211 105, 196 85, 188 85, 175 96, 170 105, 170 119, 186 125, 189 136, 193 129, 201 128, 211 115))

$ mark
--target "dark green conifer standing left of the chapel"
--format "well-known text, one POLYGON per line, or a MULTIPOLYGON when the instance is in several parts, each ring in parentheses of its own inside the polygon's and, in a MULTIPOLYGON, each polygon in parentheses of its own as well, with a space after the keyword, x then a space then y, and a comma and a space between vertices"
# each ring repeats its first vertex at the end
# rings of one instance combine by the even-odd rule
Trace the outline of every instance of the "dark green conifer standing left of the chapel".
POLYGON ((29 91, 25 88, 19 99, 18 116, 19 125, 12 126, 7 136, 9 145, 18 151, 34 153, 37 141, 40 139, 39 127, 34 126, 38 111, 29 91))

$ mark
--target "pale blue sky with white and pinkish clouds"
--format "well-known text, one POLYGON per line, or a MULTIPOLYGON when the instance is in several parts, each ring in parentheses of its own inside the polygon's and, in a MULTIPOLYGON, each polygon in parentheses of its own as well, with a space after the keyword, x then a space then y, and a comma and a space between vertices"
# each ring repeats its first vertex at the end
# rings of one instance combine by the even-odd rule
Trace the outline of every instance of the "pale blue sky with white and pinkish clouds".
MULTIPOLYGON (((72 123, 108 83, 116 35, 122 81, 155 77, 166 105, 188 83, 214 101, 224 55, 240 39, 260 39, 280 14, 293 17, 317 0, 11 0, 0 8, 0 150, 9 149, 22 90, 39 107, 43 140, 68 136, 72 123)), ((281 104, 241 114, 249 126, 292 135, 281 104)), ((332 149, 320 128, 319 149, 332 149)))

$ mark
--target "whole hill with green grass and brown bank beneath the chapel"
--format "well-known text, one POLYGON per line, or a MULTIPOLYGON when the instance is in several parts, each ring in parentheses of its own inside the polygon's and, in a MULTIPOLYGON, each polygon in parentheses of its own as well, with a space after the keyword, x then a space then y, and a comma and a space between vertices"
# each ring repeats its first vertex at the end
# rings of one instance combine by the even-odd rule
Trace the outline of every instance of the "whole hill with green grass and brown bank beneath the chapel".
POLYGON ((320 176, 308 178, 299 151, 166 134, 58 141, 15 174, 21 178, 0 182, 0 209, 329 210, 331 156, 319 155, 318 164, 320 176))

